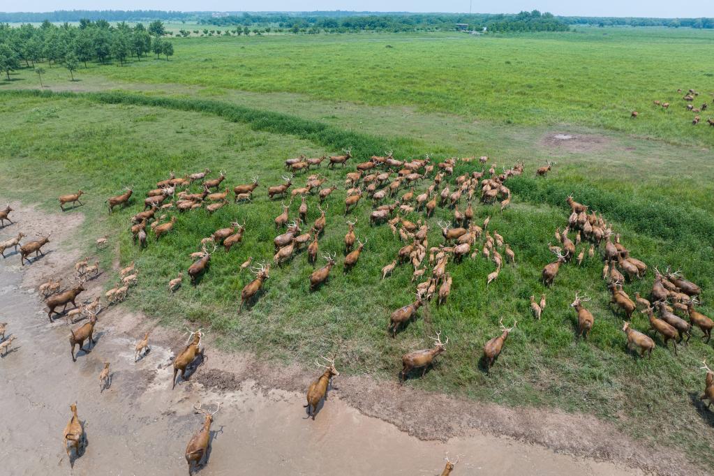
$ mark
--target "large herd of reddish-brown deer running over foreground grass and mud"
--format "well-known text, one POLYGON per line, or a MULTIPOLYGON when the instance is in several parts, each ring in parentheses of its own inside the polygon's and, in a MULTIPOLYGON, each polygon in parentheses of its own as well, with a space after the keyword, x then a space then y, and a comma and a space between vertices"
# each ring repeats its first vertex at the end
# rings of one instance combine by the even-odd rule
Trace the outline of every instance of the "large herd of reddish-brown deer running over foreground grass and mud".
MULTIPOLYGON (((267 186, 266 193, 269 201, 280 201, 279 213, 273 220, 276 236, 273 239, 272 263, 268 256, 263 260, 259 258, 254 260, 251 256, 239 268, 236 267, 238 274, 248 269, 253 273, 253 278, 241 289, 238 313, 241 313, 244 307, 253 305, 265 290, 270 278, 271 266, 278 270, 282 269, 287 263, 295 260, 303 250, 306 251, 308 265, 313 268, 309 275, 311 292, 319 292, 322 286, 330 285, 329 277, 338 263, 338 251, 344 254, 344 258, 341 258, 344 273, 350 273, 353 268, 363 266, 361 256, 371 253, 376 245, 367 247, 371 241, 357 231, 359 218, 354 215, 358 207, 361 208, 362 203, 371 206, 369 218, 363 226, 386 226, 391 231, 391 236, 401 242, 400 247, 395 248, 393 259, 390 258, 390 261, 381 268, 381 273, 374 273, 376 279, 391 278, 393 272, 400 266, 408 266, 411 270, 413 300, 394 310, 386 319, 385 335, 388 338, 398 338, 400 331, 411 321, 416 320, 420 309, 428 307, 433 298, 436 297, 436 305, 441 306, 448 302, 455 286, 456 291, 468 292, 469 283, 457 278, 461 275, 458 273, 458 267, 464 260, 481 259, 484 263, 490 263, 488 266, 492 268, 485 278, 486 286, 498 280, 504 268, 516 266, 514 247, 507 243, 506 238, 493 229, 493 226, 489 228, 490 215, 483 221, 477 221, 475 210, 478 203, 481 203, 483 206, 495 205, 493 211, 504 211, 511 203, 508 179, 523 174, 523 163, 516 163, 511 168, 501 168, 500 173, 493 163, 488 171, 486 166, 483 166, 481 171, 456 175, 455 171, 466 170, 468 163, 474 159, 449 158, 434 163, 428 155, 426 158, 412 161, 396 160, 391 152, 386 153, 385 156, 371 156, 368 161, 356 164, 355 171, 345 174, 346 196, 343 201, 345 218, 336 218, 337 213, 330 209, 330 205, 335 208, 335 202, 331 200, 328 203, 327 200, 338 186, 327 183, 328 179, 319 173, 311 173, 311 169, 320 168, 322 161, 325 160, 328 161, 328 168, 334 168, 336 165, 341 165, 341 169, 346 168, 351 158, 353 158, 351 148, 347 148, 341 156, 321 158, 301 156, 285 161, 287 172, 282 176, 282 182, 267 186), (293 187, 293 179, 298 173, 306 176, 303 187, 293 187), (420 186, 423 191, 418 190, 420 186), (317 198, 314 206, 319 213, 314 221, 309 223, 308 209, 311 207, 311 202, 308 198, 313 196, 317 198), (293 215, 293 202, 296 198, 299 198, 299 205, 297 213, 293 215), (443 209, 439 212, 440 216, 450 217, 436 221, 438 228, 430 223, 437 208, 443 209), (411 218, 413 213, 421 214, 416 221, 411 218), (330 245, 326 245, 327 249, 323 249, 321 238, 331 228, 328 223, 332 224, 336 221, 344 222, 346 225, 343 249, 336 250, 330 245), (429 239, 433 239, 433 236, 430 236, 429 232, 432 230, 440 231, 441 238, 437 243, 430 245, 429 239), (318 257, 323 260, 320 264, 318 264, 320 261, 318 257)), ((484 164, 487 161, 487 157, 482 157, 478 162, 484 164)), ((548 161, 545 166, 535 171, 535 176, 547 176, 553 164, 548 161)), ((207 213, 214 213, 218 208, 226 206, 229 201, 241 203, 241 206, 253 201, 253 196, 259 187, 258 177, 253 177, 249 183, 234 186, 234 196, 231 200, 231 197, 228 197, 231 187, 218 191, 223 181, 226 181, 226 172, 221 171, 216 178, 208 178, 210 173, 211 170, 206 168, 202 172, 187 173, 182 178, 177 178, 174 172, 171 172, 169 178, 156 183, 156 188, 147 193, 147 198, 143 202, 144 209, 131 216, 127 223, 133 242, 138 245, 139 250, 149 246, 147 239, 149 233, 154 234, 154 243, 170 233, 179 233, 181 221, 178 221, 178 214, 180 213, 188 213, 200 208, 205 208, 207 213), (191 187, 196 183, 201 184, 200 190, 191 191, 191 187)), ((108 198, 106 203, 109 213, 112 213, 116 207, 130 206, 133 192, 133 186, 126 186, 124 193, 108 198)), ((73 207, 75 203, 81 205, 80 197, 83 193, 79 190, 77 193, 60 196, 61 209, 66 210, 67 204, 73 207)), ((573 196, 568 196, 564 205, 570 209, 568 221, 553 233, 555 245, 548 243, 548 249, 555 255, 555 260, 545 264, 540 273, 545 288, 550 288, 559 282, 558 274, 564 266, 581 266, 585 255, 588 256, 588 260, 595 258, 595 255, 601 255, 603 280, 610 294, 610 305, 613 306, 615 313, 620 313, 624 318, 622 330, 625 333, 626 349, 638 348, 643 357, 645 354, 651 355, 656 347, 651 334, 654 333, 660 336, 660 342, 664 347, 667 347, 671 341, 672 351, 676 355, 677 344, 681 344, 685 338, 686 343, 692 337, 693 328, 698 328, 703 333, 705 342, 709 341, 714 322, 696 309, 700 304, 699 295, 702 292, 698 285, 685 279, 680 271, 667 268, 661 272, 658 268, 654 268, 650 300, 643 298, 639 293, 635 293, 635 298, 630 297, 624 290, 624 284, 644 279, 648 273, 648 265, 631 255, 630 250, 623 245, 620 234, 613 231, 613 226, 605 221, 602 214, 589 211, 587 205, 578 203, 573 196), (640 313, 635 314, 636 310, 640 310, 640 313), (649 331, 635 329, 639 327, 635 322, 638 314, 646 315, 648 318, 649 331)), ((4 221, 14 223, 9 219, 11 211, 13 210, 9 206, 4 211, 0 211, 0 224, 4 226, 4 221)), ((173 294, 181 289, 184 275, 188 276, 192 285, 199 285, 201 276, 210 272, 211 255, 216 253, 218 247, 222 246, 224 253, 231 253, 233 248, 241 245, 244 234, 252 232, 250 229, 246 230, 246 221, 241 224, 237 218, 225 225, 223 228, 207 231, 207 236, 197 243, 199 251, 190 253, 193 262, 186 268, 186 273, 182 271, 177 276, 166 278, 169 293, 173 294)), ((19 248, 21 263, 23 265, 26 262, 32 263, 31 255, 33 253, 36 257, 41 255, 42 248, 49 243, 50 236, 51 233, 48 233, 46 236, 38 236, 36 240, 20 244, 25 236, 19 233, 16 238, 0 243, 0 253, 6 257, 7 250, 17 252, 19 248)), ((99 238, 96 241, 97 249, 106 248, 109 242, 109 236, 99 238)), ((41 295, 46 300, 50 323, 57 315, 66 315, 68 324, 86 318, 86 323, 79 328, 71 329, 69 343, 72 360, 76 360, 77 345, 85 352, 89 352, 94 345, 94 328, 102 309, 100 298, 85 301, 80 305, 76 304, 79 296, 86 291, 84 288, 86 281, 99 275, 99 262, 91 263, 89 258, 84 258, 76 263, 74 270, 76 275, 71 278, 71 285, 67 288, 61 285, 61 280, 53 278, 39 287, 41 295), (67 311, 66 308, 70 304, 72 309, 67 311)), ((107 290, 104 295, 106 306, 124 300, 131 286, 138 280, 139 271, 136 270, 134 262, 122 268, 116 285, 107 290)), ((590 297, 578 290, 570 304, 576 313, 575 338, 583 341, 588 340, 591 333, 598 333, 595 315, 588 310, 589 302, 590 297)), ((546 315, 545 307, 545 293, 540 293, 539 300, 536 300, 535 293, 530 296, 531 313, 536 322, 546 315)), ((494 326, 493 338, 483 344, 482 361, 486 373, 491 370, 498 355, 503 352, 508 336, 516 330, 517 324, 514 318, 513 325, 508 328, 503 324, 503 317, 501 317, 498 320, 498 329, 494 326)), ((4 331, 5 325, 0 324, 3 338, 0 349, 6 352, 14 336, 6 339, 4 331)), ((448 337, 442 341, 441 330, 434 330, 434 333, 431 347, 412 350, 403 355, 402 369, 398 374, 400 383, 407 380, 413 370, 421 370, 420 376, 423 377, 434 365, 437 356, 446 353, 448 337)), ((174 358, 172 389, 176 386, 179 372, 181 380, 185 380, 187 371, 195 370, 203 361, 204 334, 202 329, 188 330, 188 340, 183 350, 174 358)), ((135 362, 144 359, 149 350, 149 333, 145 333, 144 338, 136 344, 135 362)), ((309 386, 307 405, 305 405, 308 417, 312 419, 316 417, 319 402, 326 397, 331 380, 340 375, 335 365, 337 356, 338 353, 335 353, 332 358, 321 357, 323 362, 316 361, 316 365, 323 371, 309 386)), ((714 373, 709 370, 705 362, 703 364, 703 370, 706 370, 706 390, 701 399, 709 400, 711 405, 714 398, 714 373)), ((105 363, 102 370, 100 385, 101 390, 111 385, 109 363, 105 363)), ((205 415, 205 422, 186 448, 189 472, 205 460, 211 422, 219 407, 220 404, 213 412, 207 412, 201 406, 196 407, 198 412, 205 415)), ((79 454, 84 445, 84 434, 77 417, 76 404, 71 405, 71 412, 71 420, 64 431, 68 455, 70 450, 79 454)), ((443 474, 449 474, 454 464, 456 462, 447 460, 443 474)))

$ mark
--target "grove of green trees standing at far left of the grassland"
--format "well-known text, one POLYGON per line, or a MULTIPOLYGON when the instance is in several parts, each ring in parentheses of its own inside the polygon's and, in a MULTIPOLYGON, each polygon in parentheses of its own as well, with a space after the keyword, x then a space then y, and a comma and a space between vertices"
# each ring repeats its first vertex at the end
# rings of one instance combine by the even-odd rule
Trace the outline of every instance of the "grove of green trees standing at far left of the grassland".
POLYGON ((79 26, 56 26, 45 21, 41 26, 23 24, 12 28, 0 24, 0 73, 10 79, 10 73, 21 66, 34 67, 36 63, 64 64, 71 73, 79 64, 86 67, 90 61, 106 63, 119 61, 124 65, 132 57, 138 61, 147 54, 157 57, 174 54, 171 41, 162 39, 164 25, 161 21, 134 27, 121 22, 111 26, 106 20, 82 20, 79 26))

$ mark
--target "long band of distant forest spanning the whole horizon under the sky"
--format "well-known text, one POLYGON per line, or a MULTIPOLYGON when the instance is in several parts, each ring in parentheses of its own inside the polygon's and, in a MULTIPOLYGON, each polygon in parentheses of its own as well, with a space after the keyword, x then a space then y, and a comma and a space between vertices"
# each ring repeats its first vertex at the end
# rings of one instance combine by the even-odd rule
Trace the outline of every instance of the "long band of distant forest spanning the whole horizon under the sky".
POLYGON ((159 10, 59 10, 42 13, 1 13, 0 22, 41 23, 51 21, 184 21, 215 26, 272 27, 295 33, 319 31, 444 31, 456 24, 468 24, 469 29, 490 31, 566 31, 570 25, 590 26, 667 26, 714 29, 711 18, 618 18, 595 16, 553 16, 538 10, 519 14, 410 14, 408 12, 372 11, 311 11, 311 12, 225 12, 214 17, 208 11, 159 10))

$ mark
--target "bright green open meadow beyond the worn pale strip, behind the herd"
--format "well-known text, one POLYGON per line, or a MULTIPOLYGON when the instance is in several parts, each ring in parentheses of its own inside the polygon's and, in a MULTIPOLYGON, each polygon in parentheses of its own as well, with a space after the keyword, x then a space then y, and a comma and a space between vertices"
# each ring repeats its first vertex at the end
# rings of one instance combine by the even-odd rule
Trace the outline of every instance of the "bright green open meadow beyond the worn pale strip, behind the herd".
POLYGON ((677 93, 695 88, 702 92, 696 106, 711 101, 714 69, 706 58, 713 31, 586 28, 478 39, 441 33, 174 42, 171 61, 134 61, 78 74, 413 106, 501 125, 575 123, 714 145, 713 129, 692 126, 694 114, 685 111, 683 94, 677 93), (672 107, 657 108, 655 99, 672 107), (633 109, 640 112, 634 120, 633 109))

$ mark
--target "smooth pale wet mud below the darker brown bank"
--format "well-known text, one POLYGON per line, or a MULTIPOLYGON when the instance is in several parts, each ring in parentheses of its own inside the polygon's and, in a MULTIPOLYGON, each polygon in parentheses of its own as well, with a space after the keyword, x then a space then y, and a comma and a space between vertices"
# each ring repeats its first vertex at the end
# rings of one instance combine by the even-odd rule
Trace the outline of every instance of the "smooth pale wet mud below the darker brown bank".
MULTIPOLYGON (((419 440, 388 422, 363 415, 338 398, 340 392, 328 397, 315 421, 307 420, 302 393, 266 389, 265 381, 258 385, 246 378, 245 369, 253 366, 247 358, 223 355, 210 346, 207 363, 172 391, 172 349, 183 343, 180 336, 155 328, 153 321, 122 308, 99 315, 96 348, 79 352, 73 363, 69 328, 62 319, 48 322, 34 286, 46 275, 69 274, 76 256, 56 250, 81 219, 76 214, 49 217, 28 207, 18 208, 27 225, 21 221, 9 226, 0 231, 0 238, 20 228, 38 228, 30 230, 34 233, 47 220, 64 231, 51 242, 49 253, 29 267, 19 266, 16 255, 0 261, 1 320, 17 336, 15 349, 0 361, 0 401, 5 415, 0 444, 6 453, 6 474, 69 472, 61 435, 70 417, 69 405, 75 401, 88 440, 84 455, 74 463, 73 474, 78 475, 106 474, 109 468, 112 474, 185 474, 186 443, 203 422, 193 411, 199 401, 223 402, 213 424, 211 456, 203 475, 429 475, 441 472, 447 452, 452 459, 460 457, 454 475, 638 474, 610 462, 557 454, 480 432, 446 441, 419 440), (151 352, 134 363, 134 344, 149 329, 153 329, 151 352), (100 393, 98 375, 105 361, 111 363, 112 385, 100 393), (226 369, 236 370, 233 378, 226 377, 231 375, 226 369)), ((99 283, 93 285, 86 298, 99 294, 99 283)), ((336 386, 342 381, 346 388, 341 392, 346 393, 359 379, 363 378, 338 378, 336 386)), ((293 375, 283 388, 297 387, 303 380, 304 375, 293 375)), ((372 397, 376 401, 384 395, 372 397)), ((430 407, 426 405, 421 412, 431 411, 430 407)), ((430 419, 430 415, 420 416, 415 426, 430 419)), ((460 415, 456 412, 451 418, 458 422, 460 415)), ((410 430, 430 435, 438 427, 434 423, 431 428, 410 430)))

